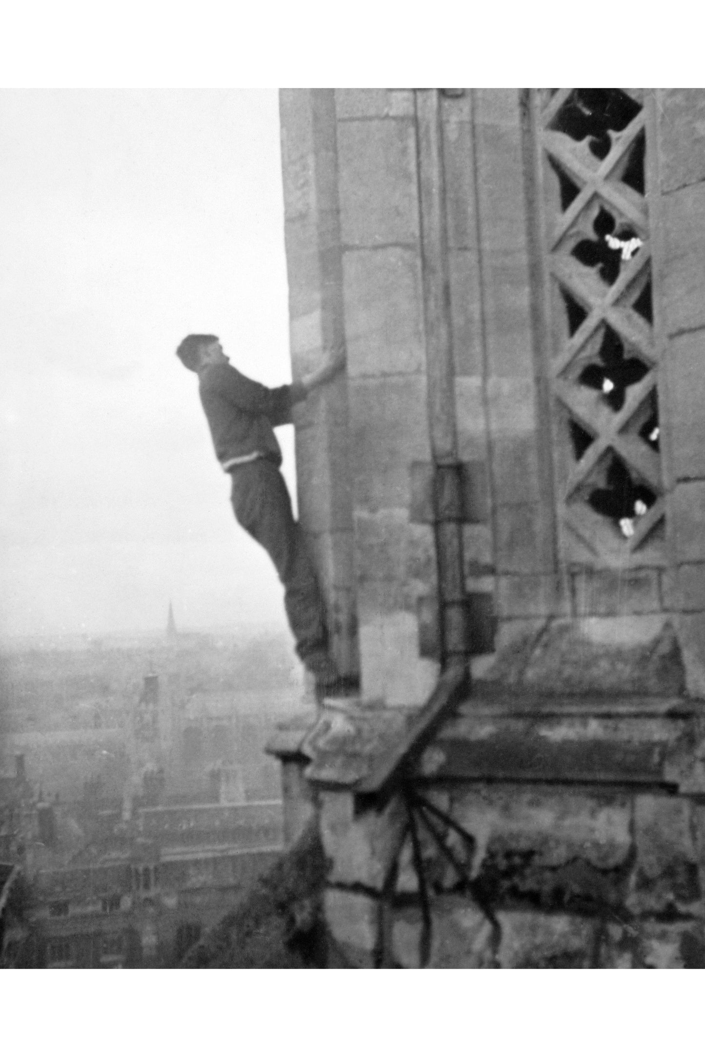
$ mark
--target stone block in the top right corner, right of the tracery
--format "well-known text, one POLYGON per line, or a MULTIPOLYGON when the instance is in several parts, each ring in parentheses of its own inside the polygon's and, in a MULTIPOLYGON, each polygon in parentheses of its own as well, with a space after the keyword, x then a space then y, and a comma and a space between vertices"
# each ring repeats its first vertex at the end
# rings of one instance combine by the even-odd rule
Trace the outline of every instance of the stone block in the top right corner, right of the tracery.
POLYGON ((669 88, 658 96, 661 187, 672 191, 705 180, 705 92, 669 88))

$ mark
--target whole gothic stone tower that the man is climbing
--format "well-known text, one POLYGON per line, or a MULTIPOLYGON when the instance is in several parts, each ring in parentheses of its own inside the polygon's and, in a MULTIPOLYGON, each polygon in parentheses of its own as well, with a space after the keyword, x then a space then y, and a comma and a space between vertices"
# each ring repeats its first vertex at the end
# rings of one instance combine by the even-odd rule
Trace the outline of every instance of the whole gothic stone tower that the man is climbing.
POLYGON ((348 351, 296 456, 361 701, 272 745, 331 933, 702 967, 705 91, 280 109, 294 377, 348 351))

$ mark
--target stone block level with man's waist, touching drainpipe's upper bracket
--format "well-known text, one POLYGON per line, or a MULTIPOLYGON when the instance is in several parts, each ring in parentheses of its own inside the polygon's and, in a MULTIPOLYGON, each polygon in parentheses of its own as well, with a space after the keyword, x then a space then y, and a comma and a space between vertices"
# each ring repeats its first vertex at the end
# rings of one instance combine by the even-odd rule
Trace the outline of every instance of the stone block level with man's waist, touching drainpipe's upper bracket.
POLYGON ((429 462, 426 378, 352 378, 350 460, 357 509, 407 507, 412 462, 429 462))

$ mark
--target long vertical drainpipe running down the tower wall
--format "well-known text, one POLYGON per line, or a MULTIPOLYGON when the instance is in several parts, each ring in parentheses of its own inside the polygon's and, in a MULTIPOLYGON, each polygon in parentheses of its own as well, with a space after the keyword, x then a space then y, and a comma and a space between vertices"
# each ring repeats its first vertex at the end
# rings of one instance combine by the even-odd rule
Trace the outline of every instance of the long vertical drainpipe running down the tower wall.
POLYGON ((450 320, 441 93, 416 89, 416 167, 426 332, 426 375, 434 466, 435 554, 441 664, 462 662, 469 679, 470 638, 463 561, 462 465, 458 458, 450 320))

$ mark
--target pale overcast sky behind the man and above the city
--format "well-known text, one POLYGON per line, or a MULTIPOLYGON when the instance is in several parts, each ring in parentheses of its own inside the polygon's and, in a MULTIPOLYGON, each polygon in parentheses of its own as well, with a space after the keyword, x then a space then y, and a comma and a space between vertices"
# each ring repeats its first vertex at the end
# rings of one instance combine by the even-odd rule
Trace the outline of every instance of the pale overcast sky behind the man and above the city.
POLYGON ((283 626, 174 356, 291 377, 277 93, 2 90, 0 134, 0 633, 283 626))

